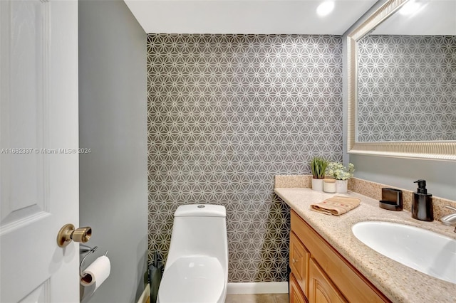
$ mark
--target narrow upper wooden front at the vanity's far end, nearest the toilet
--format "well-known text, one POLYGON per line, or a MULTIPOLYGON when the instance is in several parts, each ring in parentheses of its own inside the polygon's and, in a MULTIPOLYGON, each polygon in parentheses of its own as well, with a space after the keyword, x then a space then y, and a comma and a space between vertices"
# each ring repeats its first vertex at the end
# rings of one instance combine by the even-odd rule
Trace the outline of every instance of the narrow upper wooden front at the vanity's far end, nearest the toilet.
POLYGON ((298 237, 290 233, 290 267, 304 294, 309 297, 309 259, 310 252, 298 237))

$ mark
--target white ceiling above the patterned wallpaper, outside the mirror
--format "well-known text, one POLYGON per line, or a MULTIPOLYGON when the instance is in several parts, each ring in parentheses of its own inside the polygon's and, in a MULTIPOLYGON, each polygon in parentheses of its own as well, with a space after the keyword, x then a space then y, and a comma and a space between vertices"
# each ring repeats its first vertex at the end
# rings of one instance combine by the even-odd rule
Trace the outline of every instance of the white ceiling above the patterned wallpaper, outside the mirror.
POLYGON ((342 35, 377 0, 124 0, 146 33, 257 33, 342 35))

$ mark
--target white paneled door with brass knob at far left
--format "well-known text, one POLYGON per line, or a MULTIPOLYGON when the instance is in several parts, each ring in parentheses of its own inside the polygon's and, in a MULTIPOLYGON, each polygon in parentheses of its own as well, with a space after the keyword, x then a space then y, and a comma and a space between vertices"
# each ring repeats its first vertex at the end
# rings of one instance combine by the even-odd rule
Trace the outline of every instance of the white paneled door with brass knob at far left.
POLYGON ((78 2, 0 0, 0 302, 79 302, 78 2))

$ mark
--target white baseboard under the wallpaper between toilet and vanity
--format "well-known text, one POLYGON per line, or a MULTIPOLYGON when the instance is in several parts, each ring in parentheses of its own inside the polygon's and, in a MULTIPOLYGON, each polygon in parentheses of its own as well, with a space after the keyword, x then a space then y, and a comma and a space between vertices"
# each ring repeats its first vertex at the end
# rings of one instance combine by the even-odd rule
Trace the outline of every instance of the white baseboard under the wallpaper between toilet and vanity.
POLYGON ((227 294, 288 294, 288 282, 228 283, 227 294))

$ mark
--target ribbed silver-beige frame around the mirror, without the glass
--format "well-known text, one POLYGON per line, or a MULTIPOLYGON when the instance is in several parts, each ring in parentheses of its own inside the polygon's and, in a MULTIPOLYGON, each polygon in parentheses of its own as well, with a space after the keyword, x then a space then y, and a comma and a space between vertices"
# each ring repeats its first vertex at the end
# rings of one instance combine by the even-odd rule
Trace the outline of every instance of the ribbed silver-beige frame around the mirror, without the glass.
POLYGON ((357 42, 394 14, 408 0, 388 0, 347 36, 348 154, 456 161, 456 141, 357 142, 358 48, 357 42))

